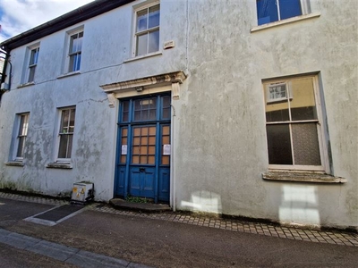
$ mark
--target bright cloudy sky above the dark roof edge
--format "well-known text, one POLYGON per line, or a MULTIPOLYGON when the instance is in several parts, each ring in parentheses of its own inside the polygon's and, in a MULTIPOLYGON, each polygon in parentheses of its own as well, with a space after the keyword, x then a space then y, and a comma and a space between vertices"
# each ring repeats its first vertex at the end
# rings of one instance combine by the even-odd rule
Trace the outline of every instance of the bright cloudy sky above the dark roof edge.
POLYGON ((0 0, 0 42, 93 0, 0 0))

